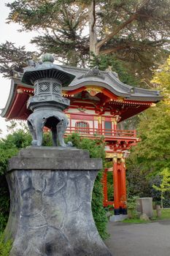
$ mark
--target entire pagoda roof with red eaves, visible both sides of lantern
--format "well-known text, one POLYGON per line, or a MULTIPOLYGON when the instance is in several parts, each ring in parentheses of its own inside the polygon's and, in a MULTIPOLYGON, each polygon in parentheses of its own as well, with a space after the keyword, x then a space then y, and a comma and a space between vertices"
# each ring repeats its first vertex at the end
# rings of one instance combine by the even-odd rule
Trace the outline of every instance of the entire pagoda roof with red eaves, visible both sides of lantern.
MULTIPOLYGON (((102 91, 109 91, 107 95, 115 95, 120 101, 129 101, 130 103, 143 102, 138 110, 131 111, 131 114, 127 113, 127 116, 123 119, 134 116, 136 113, 149 108, 152 102, 156 103, 163 99, 160 91, 141 89, 122 83, 115 72, 100 71, 96 68, 81 69, 67 66, 62 66, 62 69, 64 72, 75 76, 69 86, 64 86, 63 84, 62 89, 64 94, 76 94, 77 91, 82 91, 88 87, 93 89, 101 88, 102 91)), ((9 98, 7 99, 5 108, 1 112, 1 116, 7 118, 7 120, 12 118, 26 119, 31 113, 31 110, 26 108, 26 102, 30 96, 34 95, 34 86, 22 83, 22 77, 23 73, 19 72, 14 72, 14 77, 12 77, 9 98)))

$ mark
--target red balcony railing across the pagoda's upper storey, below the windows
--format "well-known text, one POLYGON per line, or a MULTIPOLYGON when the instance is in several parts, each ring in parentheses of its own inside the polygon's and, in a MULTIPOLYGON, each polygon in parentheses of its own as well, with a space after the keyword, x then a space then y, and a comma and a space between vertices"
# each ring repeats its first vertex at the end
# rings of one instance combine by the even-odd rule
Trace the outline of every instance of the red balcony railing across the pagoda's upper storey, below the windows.
POLYGON ((97 129, 88 127, 67 127, 66 134, 70 135, 73 132, 79 133, 83 137, 99 137, 104 136, 105 138, 121 137, 121 138, 136 138, 136 130, 122 130, 122 129, 97 129))

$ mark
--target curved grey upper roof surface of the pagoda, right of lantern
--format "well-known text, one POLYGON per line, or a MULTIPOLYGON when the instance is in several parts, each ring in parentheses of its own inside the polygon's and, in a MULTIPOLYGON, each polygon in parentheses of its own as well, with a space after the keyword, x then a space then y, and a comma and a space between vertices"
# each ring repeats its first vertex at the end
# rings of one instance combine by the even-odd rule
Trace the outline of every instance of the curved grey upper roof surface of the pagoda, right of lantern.
POLYGON ((112 93, 118 97, 131 100, 158 102, 163 99, 160 91, 142 89, 122 83, 119 80, 116 72, 101 71, 95 68, 80 69, 77 67, 62 67, 63 70, 66 70, 66 72, 70 72, 75 75, 72 83, 70 83, 67 88, 63 87, 64 91, 73 91, 74 89, 78 89, 82 86, 90 85, 101 86, 109 91, 112 91, 112 93))

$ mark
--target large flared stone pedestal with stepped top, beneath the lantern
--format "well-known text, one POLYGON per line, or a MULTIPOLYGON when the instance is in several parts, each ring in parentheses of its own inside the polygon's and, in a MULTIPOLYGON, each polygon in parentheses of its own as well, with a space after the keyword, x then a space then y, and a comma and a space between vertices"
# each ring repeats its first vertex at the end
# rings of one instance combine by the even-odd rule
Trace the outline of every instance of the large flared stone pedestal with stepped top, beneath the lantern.
POLYGON ((9 160, 10 256, 112 256, 91 213, 100 159, 76 148, 28 148, 9 160))

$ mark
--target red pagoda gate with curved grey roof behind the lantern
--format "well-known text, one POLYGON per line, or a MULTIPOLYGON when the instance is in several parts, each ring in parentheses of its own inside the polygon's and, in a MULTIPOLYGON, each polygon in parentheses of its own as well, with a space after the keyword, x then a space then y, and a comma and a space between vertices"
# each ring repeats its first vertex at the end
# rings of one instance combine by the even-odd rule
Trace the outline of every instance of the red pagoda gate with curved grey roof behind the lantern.
MULTIPOLYGON (((117 124, 154 106, 162 99, 160 92, 128 86, 115 72, 62 68, 75 76, 69 86, 63 87, 63 97, 70 99, 70 106, 65 111, 69 118, 66 135, 78 132, 90 139, 104 136, 106 157, 112 161, 112 168, 104 170, 104 206, 114 205, 115 215, 127 214, 125 156, 139 138, 135 130, 117 129, 117 124), (107 172, 110 170, 114 201, 107 199, 107 172)), ((7 120, 26 120, 31 114, 26 105, 29 97, 34 95, 34 88, 21 83, 22 75, 14 72, 7 105, 1 113, 7 120)))

